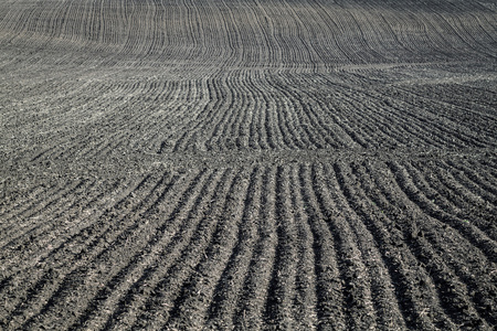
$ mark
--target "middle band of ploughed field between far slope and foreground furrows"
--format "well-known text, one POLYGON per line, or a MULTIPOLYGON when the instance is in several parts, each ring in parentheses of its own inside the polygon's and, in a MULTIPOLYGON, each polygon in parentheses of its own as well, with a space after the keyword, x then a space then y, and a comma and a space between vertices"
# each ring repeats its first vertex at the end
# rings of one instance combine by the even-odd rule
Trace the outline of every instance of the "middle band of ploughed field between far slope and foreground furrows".
POLYGON ((497 146, 494 92, 459 84, 371 88, 331 79, 236 71, 194 81, 82 78, 64 84, 60 93, 50 83, 32 83, 22 103, 6 107, 3 132, 22 139, 36 162, 123 150, 167 154, 497 146), (444 99, 451 93, 456 97, 444 99))

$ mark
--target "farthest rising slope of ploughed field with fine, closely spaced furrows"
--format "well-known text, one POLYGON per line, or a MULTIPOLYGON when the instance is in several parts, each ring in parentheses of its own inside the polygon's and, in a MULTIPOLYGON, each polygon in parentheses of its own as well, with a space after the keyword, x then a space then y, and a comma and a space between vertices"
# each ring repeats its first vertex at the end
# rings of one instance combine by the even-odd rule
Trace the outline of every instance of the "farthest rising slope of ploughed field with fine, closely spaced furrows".
POLYGON ((495 15, 478 1, 12 0, 2 1, 0 29, 2 47, 53 54, 23 52, 24 65, 297 71, 455 53, 495 60, 495 15))

